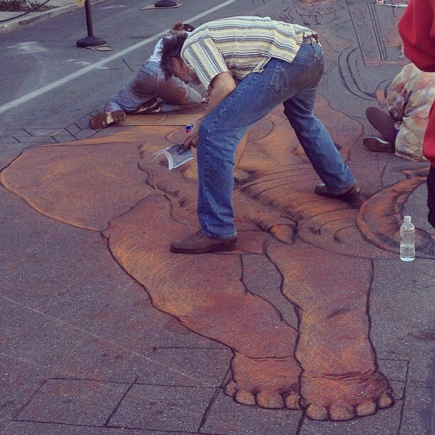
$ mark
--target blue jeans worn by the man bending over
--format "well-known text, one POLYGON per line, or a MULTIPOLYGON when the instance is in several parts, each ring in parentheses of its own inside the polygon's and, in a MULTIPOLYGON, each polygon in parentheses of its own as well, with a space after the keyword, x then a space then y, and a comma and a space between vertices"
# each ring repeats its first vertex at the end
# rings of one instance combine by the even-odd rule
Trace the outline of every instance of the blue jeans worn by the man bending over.
POLYGON ((232 208, 235 149, 252 124, 280 103, 284 104, 284 114, 326 186, 333 193, 343 193, 355 184, 331 136, 313 114, 322 74, 321 45, 303 44, 291 63, 272 58, 261 73, 245 77, 201 122, 198 219, 205 235, 215 239, 235 237, 232 208))

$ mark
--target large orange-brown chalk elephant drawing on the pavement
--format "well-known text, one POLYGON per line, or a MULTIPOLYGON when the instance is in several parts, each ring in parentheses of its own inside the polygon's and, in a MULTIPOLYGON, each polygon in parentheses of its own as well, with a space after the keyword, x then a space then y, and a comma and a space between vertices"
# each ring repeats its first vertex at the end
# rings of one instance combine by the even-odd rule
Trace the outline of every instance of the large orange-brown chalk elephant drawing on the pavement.
MULTIPOLYGON (((347 157, 358 123, 322 98, 318 109, 347 157)), ((346 204, 313 194, 316 174, 276 112, 252 130, 240 166, 235 187, 240 250, 171 254, 171 240, 197 225, 196 185, 184 176, 186 166, 168 172, 153 154, 181 136, 182 129, 142 127, 29 149, 2 171, 1 182, 50 218, 102 232, 117 262, 144 285, 154 306, 232 348, 232 380, 225 392, 237 402, 301 405, 310 418, 335 420, 390 406, 391 389, 377 371, 370 344, 367 296, 370 258, 396 255, 394 247, 385 249, 372 239, 379 231, 394 235, 397 227, 378 225, 370 232, 372 218, 366 222, 365 216, 372 214, 358 215, 346 204), (362 237, 362 222, 372 238, 362 237), (254 254, 264 254, 279 271, 276 291, 288 306, 277 308, 249 291, 243 272, 245 259, 254 254), (358 270, 352 256, 359 257, 358 270), (299 323, 290 325, 279 310, 294 308, 299 323)), ((406 196, 422 181, 412 183, 385 190, 406 196)), ((399 212, 396 204, 389 207, 390 214, 399 212)))

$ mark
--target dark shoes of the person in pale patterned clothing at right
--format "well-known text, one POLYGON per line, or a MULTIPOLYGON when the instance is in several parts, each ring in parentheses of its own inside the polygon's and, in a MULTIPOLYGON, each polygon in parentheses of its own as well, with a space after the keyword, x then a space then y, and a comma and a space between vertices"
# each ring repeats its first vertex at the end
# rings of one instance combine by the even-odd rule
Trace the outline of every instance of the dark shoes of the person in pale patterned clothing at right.
POLYGON ((363 141, 364 146, 370 151, 380 153, 394 153, 394 143, 396 141, 397 130, 396 121, 388 114, 377 107, 369 107, 365 111, 368 122, 380 132, 382 139, 369 136, 363 141))

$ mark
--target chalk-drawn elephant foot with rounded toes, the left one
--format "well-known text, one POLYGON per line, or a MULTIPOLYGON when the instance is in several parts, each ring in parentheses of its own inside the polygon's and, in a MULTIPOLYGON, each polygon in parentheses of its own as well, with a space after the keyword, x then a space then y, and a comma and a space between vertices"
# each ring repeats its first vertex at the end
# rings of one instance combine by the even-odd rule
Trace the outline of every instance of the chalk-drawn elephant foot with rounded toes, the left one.
POLYGON ((293 356, 257 359, 236 353, 232 359, 232 379, 224 392, 240 404, 300 409, 300 371, 293 356))

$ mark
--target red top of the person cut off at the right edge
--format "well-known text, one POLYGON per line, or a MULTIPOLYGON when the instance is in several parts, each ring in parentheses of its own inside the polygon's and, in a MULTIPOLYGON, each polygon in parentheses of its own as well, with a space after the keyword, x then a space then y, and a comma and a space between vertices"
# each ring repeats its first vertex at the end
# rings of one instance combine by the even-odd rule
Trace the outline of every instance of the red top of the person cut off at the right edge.
MULTIPOLYGON (((409 0, 399 21, 404 53, 420 70, 435 72, 435 0, 409 0)), ((435 103, 423 141, 423 154, 435 166, 435 103)))

